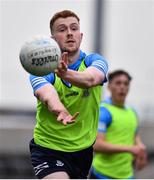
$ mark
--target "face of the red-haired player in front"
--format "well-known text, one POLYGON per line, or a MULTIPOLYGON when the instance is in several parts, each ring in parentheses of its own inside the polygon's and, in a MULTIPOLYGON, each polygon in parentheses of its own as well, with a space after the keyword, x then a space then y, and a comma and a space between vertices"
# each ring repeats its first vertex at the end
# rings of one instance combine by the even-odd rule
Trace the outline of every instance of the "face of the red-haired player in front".
POLYGON ((62 52, 78 52, 82 35, 75 17, 58 18, 53 24, 53 38, 58 42, 62 52))

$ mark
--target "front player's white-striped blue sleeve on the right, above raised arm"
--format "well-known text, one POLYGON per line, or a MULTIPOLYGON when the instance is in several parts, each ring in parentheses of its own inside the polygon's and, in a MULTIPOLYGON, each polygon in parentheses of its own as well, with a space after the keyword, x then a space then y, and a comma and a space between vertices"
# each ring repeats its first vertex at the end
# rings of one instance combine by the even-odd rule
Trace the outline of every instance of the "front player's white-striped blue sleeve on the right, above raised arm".
POLYGON ((102 71, 105 76, 108 72, 108 63, 105 58, 99 54, 90 54, 85 59, 86 66, 93 66, 102 71))

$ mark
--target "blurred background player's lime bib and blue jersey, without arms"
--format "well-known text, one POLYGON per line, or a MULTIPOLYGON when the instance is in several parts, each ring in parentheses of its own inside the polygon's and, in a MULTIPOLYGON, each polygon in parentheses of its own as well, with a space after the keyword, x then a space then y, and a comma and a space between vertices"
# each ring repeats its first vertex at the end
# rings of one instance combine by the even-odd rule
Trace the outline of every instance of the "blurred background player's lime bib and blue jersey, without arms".
MULTIPOLYGON (((137 129, 137 116, 130 107, 120 108, 107 100, 101 103, 98 131, 105 133, 105 141, 111 144, 132 146, 137 129)), ((93 159, 95 173, 112 178, 133 176, 131 153, 96 153, 93 159)))

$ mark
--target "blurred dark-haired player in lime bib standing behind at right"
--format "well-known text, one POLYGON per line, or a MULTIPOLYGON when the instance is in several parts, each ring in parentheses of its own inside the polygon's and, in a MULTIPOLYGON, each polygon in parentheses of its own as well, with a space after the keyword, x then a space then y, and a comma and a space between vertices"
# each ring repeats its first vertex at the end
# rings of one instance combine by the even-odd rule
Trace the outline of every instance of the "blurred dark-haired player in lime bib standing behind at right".
POLYGON ((146 164, 145 145, 137 132, 136 112, 125 105, 131 76, 116 70, 108 76, 111 98, 101 103, 100 120, 91 178, 133 178, 133 163, 142 169, 146 164))

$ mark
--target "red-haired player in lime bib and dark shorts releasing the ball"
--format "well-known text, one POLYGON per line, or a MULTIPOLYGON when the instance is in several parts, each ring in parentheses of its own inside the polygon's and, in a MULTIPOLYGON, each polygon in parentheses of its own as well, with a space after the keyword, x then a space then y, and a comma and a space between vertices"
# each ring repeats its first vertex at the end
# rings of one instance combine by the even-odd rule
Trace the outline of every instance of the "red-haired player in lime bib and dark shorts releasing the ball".
POLYGON ((86 55, 80 50, 83 34, 79 22, 69 10, 52 17, 51 35, 63 53, 61 62, 55 73, 30 76, 38 99, 37 123, 30 142, 38 178, 84 179, 92 163, 108 65, 101 55, 86 55))

